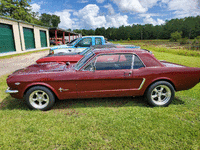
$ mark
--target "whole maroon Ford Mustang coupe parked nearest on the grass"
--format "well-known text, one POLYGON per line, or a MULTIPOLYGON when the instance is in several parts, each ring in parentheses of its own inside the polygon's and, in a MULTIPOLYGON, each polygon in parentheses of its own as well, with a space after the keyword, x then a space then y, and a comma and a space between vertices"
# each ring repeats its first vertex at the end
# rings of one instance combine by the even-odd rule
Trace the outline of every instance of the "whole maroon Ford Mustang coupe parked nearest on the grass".
POLYGON ((101 49, 78 63, 34 64, 7 78, 12 97, 31 109, 48 110, 55 102, 72 98, 142 96, 152 106, 168 106, 175 91, 200 81, 200 68, 158 61, 145 50, 101 49))

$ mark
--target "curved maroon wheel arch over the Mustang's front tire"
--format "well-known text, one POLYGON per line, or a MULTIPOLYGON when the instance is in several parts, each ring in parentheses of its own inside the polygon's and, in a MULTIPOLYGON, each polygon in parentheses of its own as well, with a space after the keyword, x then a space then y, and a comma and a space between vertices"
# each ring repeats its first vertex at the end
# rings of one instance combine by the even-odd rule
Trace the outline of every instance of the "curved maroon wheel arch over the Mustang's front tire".
POLYGON ((58 93, 56 92, 56 90, 55 90, 53 87, 51 87, 50 85, 45 84, 45 83, 34 83, 34 84, 28 85, 28 86, 25 88, 25 91, 23 92, 23 97, 26 95, 27 91, 28 91, 29 89, 31 89, 32 87, 34 87, 34 86, 42 86, 42 87, 45 87, 45 88, 49 89, 49 90, 54 94, 54 96, 55 96, 57 99, 59 99, 58 93))

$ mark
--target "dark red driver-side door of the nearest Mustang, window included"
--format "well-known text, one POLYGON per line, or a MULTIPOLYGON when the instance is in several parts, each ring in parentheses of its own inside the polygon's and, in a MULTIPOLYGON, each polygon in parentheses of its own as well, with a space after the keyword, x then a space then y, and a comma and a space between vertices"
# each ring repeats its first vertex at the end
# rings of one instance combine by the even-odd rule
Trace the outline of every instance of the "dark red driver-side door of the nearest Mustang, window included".
POLYGON ((140 80, 133 78, 132 65, 132 54, 97 56, 82 71, 77 72, 80 77, 77 81, 78 97, 132 95, 133 89, 141 84, 140 80))

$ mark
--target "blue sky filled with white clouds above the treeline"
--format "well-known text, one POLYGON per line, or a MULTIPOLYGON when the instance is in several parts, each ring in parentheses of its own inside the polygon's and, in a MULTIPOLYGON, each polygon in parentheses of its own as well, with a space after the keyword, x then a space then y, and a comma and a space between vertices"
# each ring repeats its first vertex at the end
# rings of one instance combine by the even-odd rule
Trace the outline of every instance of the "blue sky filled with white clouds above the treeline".
POLYGON ((60 16, 59 28, 96 29, 200 15, 200 0, 32 0, 32 11, 60 16))

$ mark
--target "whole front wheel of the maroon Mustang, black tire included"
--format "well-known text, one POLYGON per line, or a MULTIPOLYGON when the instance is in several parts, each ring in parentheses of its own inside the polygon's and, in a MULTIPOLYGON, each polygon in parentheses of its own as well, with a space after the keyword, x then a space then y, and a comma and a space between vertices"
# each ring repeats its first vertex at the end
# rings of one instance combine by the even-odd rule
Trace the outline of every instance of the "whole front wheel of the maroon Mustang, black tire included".
POLYGON ((51 90, 43 86, 30 88, 25 95, 25 100, 30 109, 49 110, 55 103, 55 96, 51 90))

